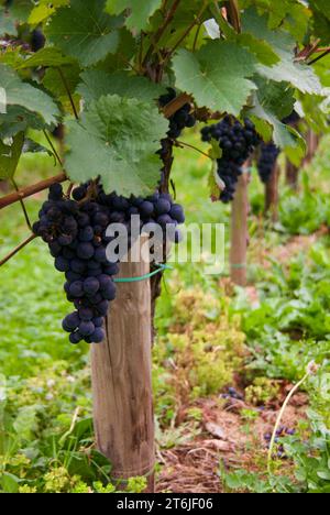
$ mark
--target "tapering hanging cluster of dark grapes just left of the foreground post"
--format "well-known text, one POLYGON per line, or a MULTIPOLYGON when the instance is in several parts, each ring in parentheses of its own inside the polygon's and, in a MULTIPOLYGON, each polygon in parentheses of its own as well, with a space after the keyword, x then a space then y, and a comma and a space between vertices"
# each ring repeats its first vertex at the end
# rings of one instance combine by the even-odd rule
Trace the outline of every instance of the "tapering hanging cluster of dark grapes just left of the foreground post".
POLYGON ((63 321, 72 343, 105 339, 103 319, 116 297, 112 277, 119 272, 118 264, 107 262, 108 223, 107 212, 97 202, 80 206, 65 198, 62 186, 55 184, 33 227, 48 243, 56 270, 65 273, 64 289, 76 308, 63 321))

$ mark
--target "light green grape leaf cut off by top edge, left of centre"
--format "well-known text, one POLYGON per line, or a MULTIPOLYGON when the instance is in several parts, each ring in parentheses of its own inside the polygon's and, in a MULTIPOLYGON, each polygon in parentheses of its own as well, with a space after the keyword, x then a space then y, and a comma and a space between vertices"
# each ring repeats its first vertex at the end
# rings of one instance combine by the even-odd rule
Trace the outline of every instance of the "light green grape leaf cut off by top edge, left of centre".
POLYGON ((108 0, 106 10, 109 14, 120 14, 128 10, 127 26, 130 30, 143 31, 148 20, 162 6, 162 0, 108 0))

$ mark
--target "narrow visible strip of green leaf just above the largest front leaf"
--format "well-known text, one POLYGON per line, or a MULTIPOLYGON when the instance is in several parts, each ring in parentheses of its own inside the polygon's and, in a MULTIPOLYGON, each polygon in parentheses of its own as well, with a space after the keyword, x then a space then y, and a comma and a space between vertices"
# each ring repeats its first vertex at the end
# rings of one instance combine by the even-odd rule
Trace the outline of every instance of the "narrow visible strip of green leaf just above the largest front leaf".
POLYGON ((152 83, 146 77, 130 75, 129 72, 108 74, 89 69, 81 74, 81 79, 82 83, 77 91, 87 103, 105 95, 120 95, 144 102, 154 102, 164 92, 163 86, 152 83))

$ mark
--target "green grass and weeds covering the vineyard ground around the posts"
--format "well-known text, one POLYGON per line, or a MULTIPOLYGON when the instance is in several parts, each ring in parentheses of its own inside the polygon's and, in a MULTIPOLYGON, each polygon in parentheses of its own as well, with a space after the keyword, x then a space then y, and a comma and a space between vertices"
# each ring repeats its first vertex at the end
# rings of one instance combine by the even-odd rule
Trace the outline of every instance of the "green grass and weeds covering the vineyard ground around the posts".
MULTIPOLYGON (((194 133, 186 138, 204 149, 194 133)), ((207 157, 187 149, 176 154, 173 178, 187 222, 224 223, 228 256, 230 207, 208 199, 207 157)), ((165 460, 158 464, 160 487, 168 486, 166 449, 175 452, 195 441, 200 447, 207 439, 209 403, 213 416, 219 414, 224 424, 227 403, 239 392, 245 404, 235 424, 249 426, 245 432, 253 435, 244 447, 248 469, 243 453, 238 470, 220 468, 221 482, 215 475, 215 487, 329 489, 330 242, 324 230, 322 237, 308 240, 329 224, 329 139, 324 139, 299 195, 282 188, 280 219, 274 228, 263 220, 263 188, 253 177, 246 291, 229 284, 228 267, 220 277, 206 275, 194 263, 167 272, 157 305, 153 364, 157 445, 165 460), (305 240, 292 252, 297 234, 305 240), (284 256, 279 249, 286 251, 284 256), (283 440, 290 458, 288 476, 282 478, 279 459, 274 468, 279 472, 270 480, 264 475, 266 449, 255 437, 255 425, 261 424, 263 409, 278 409, 286 385, 298 381, 311 360, 319 371, 307 385, 310 421, 300 430, 294 420, 296 436, 283 440)), ((50 175, 52 167, 47 156, 25 156, 20 182, 50 175)), ((32 220, 43 199, 40 195, 26 201, 32 220)), ((19 206, 0 212, 1 255, 26 235, 19 206)), ((69 305, 63 277, 41 241, 1 269, 0 308, 0 490, 116 491, 111 464, 92 446, 89 348, 70 346, 62 330, 69 305)), ((168 481, 168 487, 175 487, 168 481)), ((143 485, 134 480, 127 487, 139 492, 143 485)))

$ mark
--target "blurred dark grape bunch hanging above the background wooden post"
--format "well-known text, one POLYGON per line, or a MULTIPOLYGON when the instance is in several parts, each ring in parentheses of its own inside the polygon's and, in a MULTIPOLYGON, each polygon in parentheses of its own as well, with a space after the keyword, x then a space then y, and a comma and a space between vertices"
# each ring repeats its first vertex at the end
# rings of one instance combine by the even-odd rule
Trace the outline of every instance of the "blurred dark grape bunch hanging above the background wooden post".
POLYGON ((217 140, 222 156, 218 160, 218 175, 226 185, 220 200, 233 200, 237 183, 242 174, 242 166, 260 143, 254 123, 245 119, 244 124, 239 120, 226 117, 220 123, 205 127, 201 130, 202 141, 217 140))

